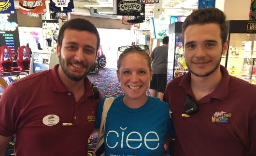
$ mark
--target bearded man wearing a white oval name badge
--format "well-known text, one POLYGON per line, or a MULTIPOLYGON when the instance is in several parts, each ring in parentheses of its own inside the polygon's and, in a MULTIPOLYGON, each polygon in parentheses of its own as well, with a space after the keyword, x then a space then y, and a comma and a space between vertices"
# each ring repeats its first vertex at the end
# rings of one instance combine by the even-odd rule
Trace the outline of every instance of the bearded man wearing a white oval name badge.
POLYGON ((100 46, 97 28, 72 19, 60 29, 60 65, 12 83, 0 99, 0 156, 15 134, 16 156, 85 156, 101 94, 86 74, 100 46))

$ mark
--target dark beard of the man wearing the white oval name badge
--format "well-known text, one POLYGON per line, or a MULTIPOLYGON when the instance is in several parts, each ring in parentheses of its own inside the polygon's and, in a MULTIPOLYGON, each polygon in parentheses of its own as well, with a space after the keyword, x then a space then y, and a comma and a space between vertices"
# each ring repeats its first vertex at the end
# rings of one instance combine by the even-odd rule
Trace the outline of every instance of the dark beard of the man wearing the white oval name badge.
POLYGON ((73 80, 73 81, 80 81, 80 80, 84 79, 84 78, 86 77, 86 75, 93 69, 93 67, 94 67, 94 65, 95 65, 95 64, 93 64, 93 65, 90 67, 90 69, 89 69, 87 72, 85 72, 84 74, 82 74, 82 75, 80 75, 80 76, 75 76, 75 75, 72 75, 72 74, 68 71, 68 69, 65 67, 65 61, 64 61, 64 59, 62 59, 61 53, 60 53, 60 56, 59 56, 59 64, 60 64, 60 66, 61 66, 63 72, 66 74, 66 76, 67 76, 68 78, 70 78, 71 80, 73 80))

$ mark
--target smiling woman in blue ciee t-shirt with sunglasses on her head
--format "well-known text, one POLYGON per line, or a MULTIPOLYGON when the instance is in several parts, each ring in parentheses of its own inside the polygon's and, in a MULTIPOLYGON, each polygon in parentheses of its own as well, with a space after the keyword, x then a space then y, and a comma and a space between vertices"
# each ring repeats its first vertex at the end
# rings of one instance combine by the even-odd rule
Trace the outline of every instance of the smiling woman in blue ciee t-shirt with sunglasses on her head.
MULTIPOLYGON (((174 135, 169 105, 146 94, 152 78, 147 46, 124 47, 118 48, 122 53, 116 72, 125 95, 114 99, 107 114, 105 156, 162 156, 165 137, 174 135)), ((97 129, 104 101, 98 107, 97 129)))

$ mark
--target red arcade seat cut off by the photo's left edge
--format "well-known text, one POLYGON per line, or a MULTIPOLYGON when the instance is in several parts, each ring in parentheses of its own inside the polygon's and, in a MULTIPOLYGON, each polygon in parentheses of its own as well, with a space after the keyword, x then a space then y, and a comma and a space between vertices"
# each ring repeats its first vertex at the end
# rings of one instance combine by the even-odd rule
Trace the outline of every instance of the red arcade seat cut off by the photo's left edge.
POLYGON ((14 69, 12 68, 13 58, 12 50, 8 46, 0 47, 0 73, 10 72, 14 69))

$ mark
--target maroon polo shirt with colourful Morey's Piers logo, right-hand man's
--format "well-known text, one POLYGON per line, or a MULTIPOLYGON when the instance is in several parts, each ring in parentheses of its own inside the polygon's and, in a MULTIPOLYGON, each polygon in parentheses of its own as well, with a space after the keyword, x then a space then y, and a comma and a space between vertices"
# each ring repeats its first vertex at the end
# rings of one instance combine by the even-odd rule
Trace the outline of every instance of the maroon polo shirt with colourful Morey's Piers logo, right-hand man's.
POLYGON ((174 156, 256 156, 256 86, 228 75, 216 89, 197 101, 199 111, 184 114, 185 97, 195 99, 191 73, 173 79, 164 93, 172 111, 174 156))

